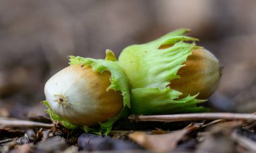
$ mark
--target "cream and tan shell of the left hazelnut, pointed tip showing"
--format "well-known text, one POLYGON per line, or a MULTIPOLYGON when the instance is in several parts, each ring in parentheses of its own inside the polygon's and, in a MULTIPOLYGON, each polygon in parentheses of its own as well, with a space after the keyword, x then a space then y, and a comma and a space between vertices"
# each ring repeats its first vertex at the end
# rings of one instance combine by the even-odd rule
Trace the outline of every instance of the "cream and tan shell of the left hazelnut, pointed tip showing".
POLYGON ((120 91, 110 89, 110 72, 71 65, 57 72, 44 87, 46 101, 60 117, 75 125, 98 125, 123 107, 120 91))

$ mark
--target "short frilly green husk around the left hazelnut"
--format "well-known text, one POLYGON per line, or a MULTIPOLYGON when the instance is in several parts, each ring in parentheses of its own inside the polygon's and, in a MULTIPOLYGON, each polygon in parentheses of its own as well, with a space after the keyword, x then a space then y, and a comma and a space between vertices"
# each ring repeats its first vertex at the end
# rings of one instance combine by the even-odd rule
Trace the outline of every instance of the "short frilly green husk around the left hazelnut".
MULTIPOLYGON (((128 79, 125 75, 125 72, 123 71, 123 68, 119 66, 117 63, 115 55, 110 50, 106 51, 106 59, 92 59, 92 58, 82 58, 79 56, 69 56, 69 64, 70 65, 88 65, 91 66, 92 70, 94 72, 104 72, 107 70, 110 72, 110 86, 106 89, 108 90, 114 90, 114 91, 121 91, 121 94, 123 95, 123 109, 115 116, 109 118, 104 123, 99 123, 98 127, 88 127, 87 125, 84 125, 82 129, 84 129, 86 132, 93 132, 95 134, 108 134, 112 128, 113 123, 120 119, 121 117, 125 117, 129 115, 129 108, 130 105, 130 92, 129 92, 129 83, 128 79)), ((97 91, 95 91, 97 92, 97 91)), ((68 121, 68 119, 65 119, 63 117, 60 117, 51 109, 51 106, 47 101, 43 102, 46 107, 49 109, 47 110, 47 113, 51 116, 51 118, 54 121, 59 121, 63 126, 67 127, 68 129, 75 129, 77 127, 81 127, 81 125, 75 125, 68 121)), ((94 105, 92 103, 92 105, 94 105)), ((93 116, 94 114, 92 114, 93 116)))

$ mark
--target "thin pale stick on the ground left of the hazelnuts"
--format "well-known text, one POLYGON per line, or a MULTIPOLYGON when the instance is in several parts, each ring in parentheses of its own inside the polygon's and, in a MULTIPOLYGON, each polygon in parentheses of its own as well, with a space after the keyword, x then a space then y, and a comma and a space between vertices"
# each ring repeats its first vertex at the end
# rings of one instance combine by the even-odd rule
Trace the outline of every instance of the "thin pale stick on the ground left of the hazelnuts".
POLYGON ((18 119, 0 119, 0 127, 53 127, 53 123, 40 123, 37 121, 24 121, 18 119))

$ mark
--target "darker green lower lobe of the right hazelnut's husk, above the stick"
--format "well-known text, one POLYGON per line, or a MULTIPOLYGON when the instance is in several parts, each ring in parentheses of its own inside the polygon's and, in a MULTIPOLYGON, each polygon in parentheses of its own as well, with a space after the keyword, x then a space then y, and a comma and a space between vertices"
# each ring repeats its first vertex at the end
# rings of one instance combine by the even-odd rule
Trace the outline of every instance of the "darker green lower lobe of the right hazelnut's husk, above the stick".
POLYGON ((138 115, 170 114, 170 113, 188 113, 208 111, 204 107, 197 107, 197 103, 203 103, 205 100, 195 99, 197 95, 183 99, 177 99, 179 91, 166 87, 141 88, 131 90, 131 113, 138 115), (142 105, 143 104, 143 105, 142 105))

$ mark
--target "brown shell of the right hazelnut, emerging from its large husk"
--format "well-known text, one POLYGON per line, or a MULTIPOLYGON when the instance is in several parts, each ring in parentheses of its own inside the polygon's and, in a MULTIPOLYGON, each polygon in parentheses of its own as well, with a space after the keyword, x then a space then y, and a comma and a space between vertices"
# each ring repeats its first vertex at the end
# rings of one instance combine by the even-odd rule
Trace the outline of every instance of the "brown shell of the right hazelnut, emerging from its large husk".
POLYGON ((197 99, 207 99, 216 91, 221 77, 218 59, 208 50, 199 48, 184 62, 185 66, 177 74, 181 77, 170 81, 169 87, 183 93, 181 97, 196 95, 197 99))

